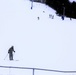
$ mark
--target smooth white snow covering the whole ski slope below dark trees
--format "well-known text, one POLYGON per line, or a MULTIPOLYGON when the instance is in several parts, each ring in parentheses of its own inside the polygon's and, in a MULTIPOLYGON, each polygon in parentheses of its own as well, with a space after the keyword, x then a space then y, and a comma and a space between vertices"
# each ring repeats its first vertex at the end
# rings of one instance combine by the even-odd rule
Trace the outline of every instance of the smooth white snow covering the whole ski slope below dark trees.
MULTIPOLYGON (((0 0, 0 65, 76 70, 76 20, 63 21, 45 4, 34 2, 30 8, 28 0, 0 0), (12 45, 14 61, 4 60, 12 45)), ((13 71, 1 68, 0 74, 31 75, 13 71)))

